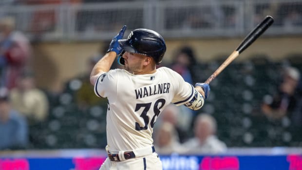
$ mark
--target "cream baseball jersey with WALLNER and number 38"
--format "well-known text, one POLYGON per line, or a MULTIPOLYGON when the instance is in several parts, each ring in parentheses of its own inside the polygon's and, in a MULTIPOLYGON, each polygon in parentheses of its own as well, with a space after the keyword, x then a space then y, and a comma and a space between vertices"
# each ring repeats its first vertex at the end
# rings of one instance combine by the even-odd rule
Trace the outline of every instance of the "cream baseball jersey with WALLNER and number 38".
POLYGON ((153 126, 161 111, 171 102, 182 105, 194 97, 194 87, 167 67, 147 75, 110 70, 98 77, 94 92, 108 98, 109 151, 151 146, 153 126))

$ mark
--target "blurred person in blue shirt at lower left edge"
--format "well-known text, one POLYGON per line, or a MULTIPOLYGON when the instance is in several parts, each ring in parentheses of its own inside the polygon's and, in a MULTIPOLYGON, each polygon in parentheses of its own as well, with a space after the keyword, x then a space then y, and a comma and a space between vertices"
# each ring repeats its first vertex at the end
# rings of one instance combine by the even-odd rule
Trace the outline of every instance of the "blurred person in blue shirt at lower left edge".
POLYGON ((9 91, 0 88, 0 150, 23 149, 28 144, 28 127, 26 119, 12 109, 9 91))

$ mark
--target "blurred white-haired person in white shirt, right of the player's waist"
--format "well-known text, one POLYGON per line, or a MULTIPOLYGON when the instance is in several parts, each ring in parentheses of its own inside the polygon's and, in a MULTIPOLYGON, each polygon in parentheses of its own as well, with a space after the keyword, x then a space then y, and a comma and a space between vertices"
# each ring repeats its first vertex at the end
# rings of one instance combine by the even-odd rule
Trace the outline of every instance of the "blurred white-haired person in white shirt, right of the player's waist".
POLYGON ((194 137, 183 144, 189 153, 216 154, 227 151, 227 145, 215 135, 216 120, 209 114, 199 114, 194 122, 194 137))

